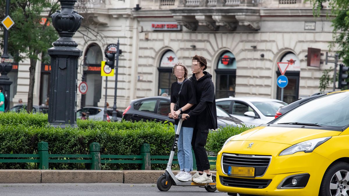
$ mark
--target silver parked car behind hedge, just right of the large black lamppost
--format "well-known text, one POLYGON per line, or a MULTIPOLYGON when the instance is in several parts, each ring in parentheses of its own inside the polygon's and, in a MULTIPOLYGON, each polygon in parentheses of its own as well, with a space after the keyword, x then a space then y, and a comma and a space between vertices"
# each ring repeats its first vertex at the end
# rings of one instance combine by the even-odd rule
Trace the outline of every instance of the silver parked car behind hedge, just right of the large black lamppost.
MULTIPOLYGON (((118 110, 117 111, 117 118, 118 121, 121 121, 122 119, 122 113, 118 110)), ((82 112, 89 112, 89 119, 91 120, 103 120, 103 115, 104 115, 104 108, 103 107, 84 107, 78 111, 76 111, 76 118, 81 119, 82 112)), ((109 115, 109 118, 112 118, 113 115, 113 109, 112 108, 107 108, 107 114, 109 115)))

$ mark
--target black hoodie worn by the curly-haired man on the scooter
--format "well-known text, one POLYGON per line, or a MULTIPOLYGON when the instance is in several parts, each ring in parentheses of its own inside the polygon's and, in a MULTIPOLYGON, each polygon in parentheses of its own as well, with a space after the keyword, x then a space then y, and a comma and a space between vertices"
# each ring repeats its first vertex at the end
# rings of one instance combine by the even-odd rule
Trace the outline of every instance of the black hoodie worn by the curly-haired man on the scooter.
POLYGON ((188 115, 196 116, 196 129, 217 129, 215 87, 212 75, 207 71, 203 74, 199 80, 196 80, 195 74, 189 78, 194 84, 198 104, 188 115))

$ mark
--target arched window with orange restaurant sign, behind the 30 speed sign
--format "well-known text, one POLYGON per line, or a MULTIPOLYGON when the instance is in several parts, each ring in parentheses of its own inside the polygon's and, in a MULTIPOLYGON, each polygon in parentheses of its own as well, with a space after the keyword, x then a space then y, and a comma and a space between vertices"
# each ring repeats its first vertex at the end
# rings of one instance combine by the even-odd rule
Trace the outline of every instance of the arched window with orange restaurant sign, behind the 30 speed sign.
POLYGON ((82 106, 98 106, 102 96, 102 76, 101 61, 103 53, 101 48, 96 44, 91 44, 85 53, 85 62, 88 69, 83 72, 84 81, 88 86, 88 91, 81 97, 82 106))

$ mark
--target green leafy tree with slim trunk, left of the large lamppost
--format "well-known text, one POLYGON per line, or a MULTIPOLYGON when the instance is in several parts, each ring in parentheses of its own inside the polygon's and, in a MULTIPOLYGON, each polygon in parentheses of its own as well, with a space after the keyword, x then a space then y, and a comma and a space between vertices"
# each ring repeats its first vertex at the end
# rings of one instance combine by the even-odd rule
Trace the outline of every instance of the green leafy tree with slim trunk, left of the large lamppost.
MULTIPOLYGON (((32 110, 35 69, 39 54, 47 51, 52 42, 58 39, 50 15, 59 9, 59 6, 57 0, 10 1, 9 15, 15 24, 9 30, 8 51, 17 62, 27 58, 30 60, 28 111, 32 110)), ((5 1, 0 1, 0 20, 3 17, 5 17, 5 1)), ((0 36, 3 44, 3 31, 0 32, 0 36)))

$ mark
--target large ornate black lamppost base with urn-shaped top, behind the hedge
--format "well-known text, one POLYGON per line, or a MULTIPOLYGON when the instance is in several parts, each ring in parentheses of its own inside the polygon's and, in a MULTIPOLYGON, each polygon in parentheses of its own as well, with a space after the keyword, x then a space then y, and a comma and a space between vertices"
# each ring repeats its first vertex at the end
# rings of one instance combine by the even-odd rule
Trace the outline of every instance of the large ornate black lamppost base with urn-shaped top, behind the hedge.
POLYGON ((57 10, 51 18, 60 38, 47 50, 51 56, 49 123, 54 127, 77 127, 77 68, 82 51, 77 48, 72 37, 79 29, 83 17, 74 11, 77 0, 59 1, 61 10, 57 10))

